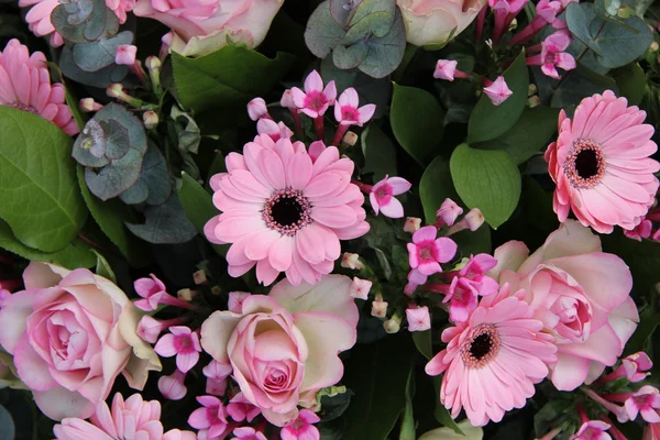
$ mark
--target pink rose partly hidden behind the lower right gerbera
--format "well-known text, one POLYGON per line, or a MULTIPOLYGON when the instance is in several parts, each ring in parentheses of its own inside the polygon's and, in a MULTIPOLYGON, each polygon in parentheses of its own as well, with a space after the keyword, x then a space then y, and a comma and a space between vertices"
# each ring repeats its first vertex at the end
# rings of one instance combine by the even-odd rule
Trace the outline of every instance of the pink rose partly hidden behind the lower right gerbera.
POLYGON ((602 252, 601 239, 573 220, 528 255, 524 243, 509 241, 495 250, 498 263, 487 274, 510 283, 513 290, 526 289, 536 317, 554 336, 554 386, 571 391, 588 384, 616 363, 639 322, 629 296, 630 271, 618 256, 602 252))

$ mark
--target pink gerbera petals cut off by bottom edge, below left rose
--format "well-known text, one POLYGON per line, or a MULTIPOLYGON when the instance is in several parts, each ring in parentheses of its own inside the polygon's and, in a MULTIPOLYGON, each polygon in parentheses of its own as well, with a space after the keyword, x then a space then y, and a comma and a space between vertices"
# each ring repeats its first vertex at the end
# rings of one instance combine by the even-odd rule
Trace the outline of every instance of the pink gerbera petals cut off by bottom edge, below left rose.
POLYGON ((58 440, 195 440, 191 431, 169 430, 163 433, 161 403, 145 402, 140 394, 133 394, 125 402, 117 393, 112 408, 101 402, 89 422, 77 418, 65 418, 55 425, 53 433, 58 440))

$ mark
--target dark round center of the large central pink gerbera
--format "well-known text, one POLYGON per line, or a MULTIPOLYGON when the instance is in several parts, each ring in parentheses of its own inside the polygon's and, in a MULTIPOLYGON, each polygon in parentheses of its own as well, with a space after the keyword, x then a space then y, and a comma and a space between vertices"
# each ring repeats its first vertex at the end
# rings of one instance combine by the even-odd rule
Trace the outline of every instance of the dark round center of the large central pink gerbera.
POLYGON ((266 226, 286 235, 294 235, 311 223, 311 204, 295 189, 275 191, 266 201, 263 219, 266 226))

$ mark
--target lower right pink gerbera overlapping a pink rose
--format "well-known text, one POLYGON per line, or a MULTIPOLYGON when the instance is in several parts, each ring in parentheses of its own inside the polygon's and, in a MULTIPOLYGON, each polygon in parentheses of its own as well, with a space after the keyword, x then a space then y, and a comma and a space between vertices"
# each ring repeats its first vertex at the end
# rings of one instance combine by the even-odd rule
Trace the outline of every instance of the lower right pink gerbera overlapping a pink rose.
POLYGON ((464 408, 474 426, 502 420, 505 411, 525 406, 534 384, 557 361, 552 337, 541 332, 543 323, 519 299, 524 296, 524 290, 510 296, 505 284, 498 294, 483 298, 466 321, 442 332, 448 345, 426 372, 444 373, 440 402, 453 418, 464 408))

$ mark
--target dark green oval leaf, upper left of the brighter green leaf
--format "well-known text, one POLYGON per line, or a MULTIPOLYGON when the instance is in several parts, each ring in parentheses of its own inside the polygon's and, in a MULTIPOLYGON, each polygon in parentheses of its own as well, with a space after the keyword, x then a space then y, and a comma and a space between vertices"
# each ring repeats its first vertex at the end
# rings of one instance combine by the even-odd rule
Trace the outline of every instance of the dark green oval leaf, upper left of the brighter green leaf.
POLYGON ((427 164, 440 145, 443 119, 444 111, 431 94, 394 85, 389 112, 392 131, 404 150, 420 165, 427 164))

